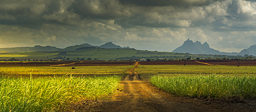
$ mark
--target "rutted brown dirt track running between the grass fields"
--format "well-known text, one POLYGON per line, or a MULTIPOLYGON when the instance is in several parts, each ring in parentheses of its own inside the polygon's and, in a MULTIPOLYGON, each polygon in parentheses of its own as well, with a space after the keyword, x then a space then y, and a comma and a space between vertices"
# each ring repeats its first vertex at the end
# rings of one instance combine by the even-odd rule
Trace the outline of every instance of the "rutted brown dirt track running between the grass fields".
POLYGON ((149 81, 140 80, 134 71, 136 68, 138 63, 128 69, 129 75, 121 81, 122 90, 118 89, 118 94, 110 100, 76 103, 72 111, 221 111, 185 100, 175 101, 173 95, 154 87, 149 81))

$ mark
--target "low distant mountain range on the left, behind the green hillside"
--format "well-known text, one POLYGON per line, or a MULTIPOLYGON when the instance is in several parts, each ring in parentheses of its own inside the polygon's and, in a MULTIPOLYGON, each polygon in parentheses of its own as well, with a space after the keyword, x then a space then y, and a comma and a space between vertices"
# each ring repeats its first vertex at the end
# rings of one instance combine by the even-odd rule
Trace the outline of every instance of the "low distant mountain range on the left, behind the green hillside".
POLYGON ((101 46, 94 46, 90 45, 88 43, 84 43, 81 45, 74 45, 74 46, 68 46, 66 48, 57 48, 53 46, 40 46, 36 45, 34 47, 12 47, 12 48, 0 48, 0 52, 27 52, 27 51, 69 51, 69 50, 76 50, 77 48, 81 47, 97 47, 97 48, 130 48, 127 47, 121 47, 119 45, 115 45, 112 42, 105 43, 101 46))

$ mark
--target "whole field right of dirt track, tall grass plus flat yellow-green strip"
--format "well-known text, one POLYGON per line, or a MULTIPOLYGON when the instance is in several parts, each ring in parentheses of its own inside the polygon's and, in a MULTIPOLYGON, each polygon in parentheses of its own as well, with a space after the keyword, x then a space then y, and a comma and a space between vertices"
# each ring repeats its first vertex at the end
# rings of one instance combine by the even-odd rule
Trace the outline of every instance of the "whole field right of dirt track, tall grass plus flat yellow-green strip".
POLYGON ((164 91, 189 97, 256 97, 255 66, 151 65, 136 69, 164 91))

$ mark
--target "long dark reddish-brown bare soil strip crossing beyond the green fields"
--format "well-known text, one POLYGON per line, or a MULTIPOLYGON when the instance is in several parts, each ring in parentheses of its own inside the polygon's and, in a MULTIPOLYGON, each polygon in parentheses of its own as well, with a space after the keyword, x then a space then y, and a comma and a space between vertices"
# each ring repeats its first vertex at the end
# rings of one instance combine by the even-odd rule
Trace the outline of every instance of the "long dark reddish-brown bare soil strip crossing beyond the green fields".
MULTIPOLYGON (((129 61, 49 61, 49 62, 0 62, 0 66, 122 66, 135 65, 129 61)), ((139 62, 139 65, 229 65, 256 66, 256 60, 187 60, 165 62, 139 62)))

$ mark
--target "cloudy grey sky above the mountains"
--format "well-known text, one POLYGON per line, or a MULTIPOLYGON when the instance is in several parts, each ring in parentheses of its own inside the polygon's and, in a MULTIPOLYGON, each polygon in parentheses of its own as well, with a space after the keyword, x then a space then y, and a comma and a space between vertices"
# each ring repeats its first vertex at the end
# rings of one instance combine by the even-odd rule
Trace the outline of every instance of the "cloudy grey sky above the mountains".
POLYGON ((89 43, 173 51, 187 39, 222 52, 256 44, 255 0, 0 0, 0 47, 89 43))

